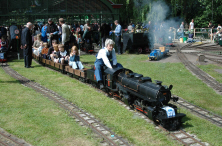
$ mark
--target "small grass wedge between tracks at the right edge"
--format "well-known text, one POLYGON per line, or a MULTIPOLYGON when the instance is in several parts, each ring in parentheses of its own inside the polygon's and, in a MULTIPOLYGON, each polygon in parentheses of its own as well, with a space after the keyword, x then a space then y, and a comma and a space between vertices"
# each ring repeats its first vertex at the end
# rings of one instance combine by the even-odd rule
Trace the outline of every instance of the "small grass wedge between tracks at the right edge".
POLYGON ((215 71, 215 69, 222 69, 221 66, 215 65, 215 64, 209 64, 209 65, 199 65, 200 69, 211 75, 213 78, 215 78, 219 83, 222 83, 222 74, 215 71))

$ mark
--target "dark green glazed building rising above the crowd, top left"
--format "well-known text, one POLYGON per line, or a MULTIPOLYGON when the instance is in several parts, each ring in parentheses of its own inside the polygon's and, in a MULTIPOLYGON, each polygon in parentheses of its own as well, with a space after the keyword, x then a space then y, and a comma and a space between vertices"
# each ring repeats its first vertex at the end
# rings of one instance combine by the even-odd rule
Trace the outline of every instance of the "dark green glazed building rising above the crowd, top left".
POLYGON ((47 22, 48 18, 66 22, 85 20, 112 21, 119 18, 115 4, 108 0, 5 0, 0 3, 0 24, 18 25, 31 22, 47 22))

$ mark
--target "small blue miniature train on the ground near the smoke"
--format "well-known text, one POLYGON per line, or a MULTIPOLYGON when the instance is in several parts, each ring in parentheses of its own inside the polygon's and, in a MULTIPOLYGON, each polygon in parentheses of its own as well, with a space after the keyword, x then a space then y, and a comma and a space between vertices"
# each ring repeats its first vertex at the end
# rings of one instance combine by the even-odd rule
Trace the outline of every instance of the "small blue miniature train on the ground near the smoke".
POLYGON ((160 49, 153 50, 150 55, 148 55, 149 60, 159 60, 167 55, 169 49, 165 49, 165 47, 160 47, 160 49))

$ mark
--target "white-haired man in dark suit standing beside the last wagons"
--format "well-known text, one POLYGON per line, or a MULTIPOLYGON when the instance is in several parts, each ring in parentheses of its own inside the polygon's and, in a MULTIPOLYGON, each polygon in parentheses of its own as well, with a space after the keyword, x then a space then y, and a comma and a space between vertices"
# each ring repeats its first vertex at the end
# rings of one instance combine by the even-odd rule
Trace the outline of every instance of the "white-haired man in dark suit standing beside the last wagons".
POLYGON ((32 64, 32 23, 28 22, 22 30, 21 49, 23 49, 24 62, 26 68, 31 68, 32 64))

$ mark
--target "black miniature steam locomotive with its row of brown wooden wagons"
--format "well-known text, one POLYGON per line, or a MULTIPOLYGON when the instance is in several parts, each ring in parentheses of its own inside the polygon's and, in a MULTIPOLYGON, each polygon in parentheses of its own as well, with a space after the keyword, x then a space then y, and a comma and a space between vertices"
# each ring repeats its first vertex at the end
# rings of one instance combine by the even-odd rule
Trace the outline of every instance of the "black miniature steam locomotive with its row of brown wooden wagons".
MULTIPOLYGON (((99 87, 94 67, 83 70, 72 69, 68 65, 54 63, 34 54, 33 57, 44 65, 55 67, 80 81, 99 87)), ((125 104, 144 113, 156 124, 160 124, 168 130, 180 128, 181 119, 186 115, 178 113, 177 107, 169 103, 170 100, 174 102, 178 100, 178 98, 171 97, 172 85, 163 86, 161 81, 152 83, 150 77, 143 77, 126 68, 110 69, 104 66, 102 72, 103 84, 107 93, 120 98, 125 104)))

